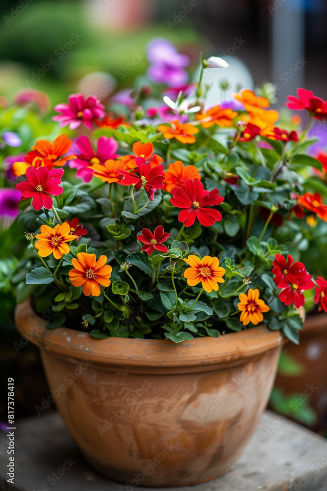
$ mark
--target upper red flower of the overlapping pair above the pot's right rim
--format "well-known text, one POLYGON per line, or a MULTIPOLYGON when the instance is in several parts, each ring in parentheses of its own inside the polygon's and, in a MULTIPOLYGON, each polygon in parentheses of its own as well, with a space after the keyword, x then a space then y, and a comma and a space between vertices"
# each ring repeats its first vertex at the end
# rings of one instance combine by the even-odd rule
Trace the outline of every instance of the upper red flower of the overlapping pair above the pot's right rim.
MULTIPOLYGON (((274 281, 278 288, 286 288, 290 283, 297 283, 297 281, 303 284, 306 284, 307 281, 311 282, 311 276, 305 271, 304 264, 300 262, 293 263, 293 257, 290 255, 287 256, 286 261, 284 256, 276 254, 273 266, 272 273, 276 275, 274 281)), ((303 288, 303 290, 309 290, 312 287, 313 284, 311 282, 310 287, 303 288)))

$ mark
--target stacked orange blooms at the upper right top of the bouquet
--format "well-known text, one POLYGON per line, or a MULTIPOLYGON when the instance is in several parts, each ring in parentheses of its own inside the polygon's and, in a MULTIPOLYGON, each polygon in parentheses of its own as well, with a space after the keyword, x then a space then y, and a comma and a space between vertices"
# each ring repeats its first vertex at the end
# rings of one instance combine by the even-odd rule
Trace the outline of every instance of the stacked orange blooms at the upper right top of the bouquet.
POLYGON ((279 113, 269 108, 269 101, 265 97, 257 97, 253 90, 241 89, 239 93, 232 96, 241 102, 248 114, 242 114, 242 120, 252 123, 260 128, 260 135, 270 136, 273 134, 275 123, 279 113))

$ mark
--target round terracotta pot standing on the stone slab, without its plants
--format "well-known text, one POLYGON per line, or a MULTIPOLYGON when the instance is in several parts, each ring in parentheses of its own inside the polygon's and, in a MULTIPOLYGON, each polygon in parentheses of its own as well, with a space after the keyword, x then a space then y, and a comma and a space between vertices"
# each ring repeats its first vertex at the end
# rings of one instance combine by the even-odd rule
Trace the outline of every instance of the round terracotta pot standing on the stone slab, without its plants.
POLYGON ((229 470, 252 436, 284 337, 265 326, 169 340, 47 329, 27 300, 20 332, 39 346, 56 406, 86 459, 131 486, 184 486, 229 470))

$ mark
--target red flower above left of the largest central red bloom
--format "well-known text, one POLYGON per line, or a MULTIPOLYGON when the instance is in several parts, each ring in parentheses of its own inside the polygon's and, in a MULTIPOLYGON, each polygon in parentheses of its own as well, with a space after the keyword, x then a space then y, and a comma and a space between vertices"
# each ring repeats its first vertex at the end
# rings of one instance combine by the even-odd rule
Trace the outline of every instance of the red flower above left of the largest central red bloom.
POLYGON ((118 170, 123 176, 122 180, 119 181, 119 184, 122 184, 123 186, 133 185, 136 191, 144 189, 148 194, 149 199, 152 201, 154 192, 157 189, 163 188, 163 181, 165 179, 165 174, 163 172, 164 166, 160 164, 152 169, 151 161, 147 162, 143 157, 137 157, 135 161, 136 167, 132 172, 118 170))

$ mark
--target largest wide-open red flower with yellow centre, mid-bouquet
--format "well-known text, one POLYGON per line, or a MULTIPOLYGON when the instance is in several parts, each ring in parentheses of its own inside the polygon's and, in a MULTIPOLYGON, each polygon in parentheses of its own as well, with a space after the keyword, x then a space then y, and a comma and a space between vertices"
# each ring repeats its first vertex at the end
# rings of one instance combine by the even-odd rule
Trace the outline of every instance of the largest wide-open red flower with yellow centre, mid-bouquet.
POLYGON ((182 208, 179 212, 178 220, 184 222, 186 227, 190 227, 198 218, 200 223, 205 227, 210 227, 216 221, 222 219, 222 214, 214 208, 224 201, 223 196, 219 196, 218 189, 206 191, 199 179, 185 179, 182 188, 172 189, 173 198, 170 202, 176 208, 182 208))

